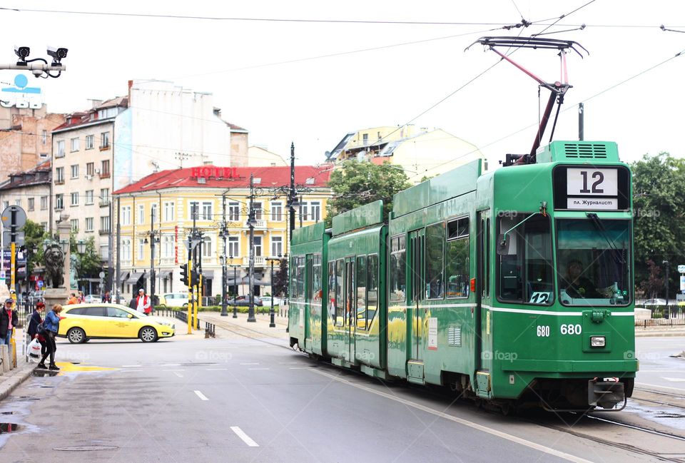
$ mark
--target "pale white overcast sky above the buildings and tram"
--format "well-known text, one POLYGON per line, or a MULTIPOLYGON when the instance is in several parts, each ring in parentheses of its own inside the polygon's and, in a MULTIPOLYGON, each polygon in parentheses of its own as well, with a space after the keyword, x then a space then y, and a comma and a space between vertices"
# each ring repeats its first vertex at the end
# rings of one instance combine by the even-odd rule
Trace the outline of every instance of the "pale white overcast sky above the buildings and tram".
MULTIPOLYGON (((528 21, 551 24, 549 36, 579 41, 590 52, 568 56, 574 86, 562 109, 555 139, 577 138, 577 103, 586 108, 586 140, 617 141, 624 161, 644 153, 685 155, 682 136, 685 56, 644 73, 600 96, 591 96, 685 50, 685 2, 597 0, 424 1, 9 1, 5 8, 190 16, 332 19, 360 21, 445 21, 474 25, 349 24, 275 21, 135 18, 83 14, 0 11, 5 45, 0 61, 16 60, 14 45, 46 57, 45 46, 65 46, 68 70, 60 78, 36 80, 49 111, 71 112, 87 98, 126 93, 132 78, 171 80, 214 94, 223 117, 250 131, 250 145, 284 156, 295 142, 298 164, 320 163, 345 133, 413 121, 442 128, 475 143, 490 165, 505 153, 527 153, 537 123, 537 83, 509 63, 499 63, 447 98, 499 58, 482 46, 464 51, 480 36, 516 35, 488 24, 528 21), (519 14, 520 11, 520 14, 519 14), (447 39, 425 41, 452 36, 447 39), (11 39, 10 39, 11 38, 11 39), (360 49, 424 41, 360 53, 300 60, 360 49), (530 126, 530 127, 528 127, 530 126), (528 127, 528 128, 527 128, 528 127), (520 131, 517 135, 512 133, 520 131)), ((534 24, 522 32, 542 31, 534 24)), ((519 50, 512 58, 545 81, 559 80, 553 51, 519 50)), ((11 82, 14 71, 0 80, 11 82)), ((549 132, 547 132, 547 137, 549 132)))

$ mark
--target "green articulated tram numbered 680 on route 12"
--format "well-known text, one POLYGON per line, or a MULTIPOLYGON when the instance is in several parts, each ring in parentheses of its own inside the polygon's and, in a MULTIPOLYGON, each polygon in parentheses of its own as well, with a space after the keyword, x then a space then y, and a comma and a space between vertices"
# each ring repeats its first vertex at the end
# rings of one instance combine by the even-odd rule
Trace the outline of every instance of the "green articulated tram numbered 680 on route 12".
POLYGON ((612 142, 475 161, 295 230, 290 344, 508 409, 619 410, 634 356, 631 173, 612 142))

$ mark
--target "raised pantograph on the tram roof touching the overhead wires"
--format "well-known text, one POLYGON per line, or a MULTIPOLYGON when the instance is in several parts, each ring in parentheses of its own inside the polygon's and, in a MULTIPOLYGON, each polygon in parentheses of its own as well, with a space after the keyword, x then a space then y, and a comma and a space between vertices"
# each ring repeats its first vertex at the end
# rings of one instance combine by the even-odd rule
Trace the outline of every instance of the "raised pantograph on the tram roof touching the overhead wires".
MULTIPOLYGON (((554 106, 554 101, 557 101, 557 114, 554 116, 554 123, 552 124, 552 133, 549 136, 549 141, 552 141, 552 138, 554 138, 554 128, 557 126, 557 119, 559 118, 559 110, 562 107, 562 103, 564 103, 564 95, 566 95, 566 92, 569 90, 569 88, 572 88, 571 85, 569 85, 569 76, 568 76, 568 70, 567 70, 567 64, 566 64, 566 54, 569 50, 575 51, 581 58, 583 57, 582 53, 578 51, 575 47, 578 46, 580 49, 582 49, 585 53, 589 54, 589 51, 584 48, 581 44, 579 44, 576 41, 572 40, 559 40, 559 39, 545 39, 542 37, 481 37, 477 41, 475 41, 473 44, 481 44, 483 46, 486 46, 487 49, 494 51, 496 54, 499 55, 500 58, 504 59, 505 61, 508 61, 509 63, 512 63, 512 65, 516 66, 516 68, 520 69, 523 71, 527 76, 532 78, 534 81, 537 81, 539 86, 542 86, 544 88, 547 88, 551 93, 549 94, 549 99, 547 100, 547 106, 544 108, 544 113, 542 113, 542 118, 540 119, 539 127, 537 129, 537 134, 535 136, 535 139, 533 141, 533 146, 530 148, 530 153, 527 155, 520 156, 514 164, 534 164, 535 163, 535 157, 536 157, 536 152, 537 148, 540 146, 540 142, 542 141, 542 134, 544 133, 544 129, 547 128, 547 122, 549 122, 549 116, 552 114, 552 107, 554 106), (534 73, 528 71, 526 68, 521 66, 519 63, 516 61, 512 60, 512 58, 509 58, 509 56, 503 54, 502 52, 498 51, 495 47, 498 46, 506 46, 507 48, 519 48, 519 49, 552 49, 552 50, 558 50, 559 51, 559 58, 561 59, 561 77, 559 78, 559 81, 555 81, 554 83, 548 83, 542 80, 542 78, 539 78, 536 76, 534 73)), ((473 44, 470 46, 467 46, 466 50, 468 50, 473 44)), ((509 156, 509 155, 507 155, 509 156)), ((514 155, 516 156, 516 155, 514 155)))

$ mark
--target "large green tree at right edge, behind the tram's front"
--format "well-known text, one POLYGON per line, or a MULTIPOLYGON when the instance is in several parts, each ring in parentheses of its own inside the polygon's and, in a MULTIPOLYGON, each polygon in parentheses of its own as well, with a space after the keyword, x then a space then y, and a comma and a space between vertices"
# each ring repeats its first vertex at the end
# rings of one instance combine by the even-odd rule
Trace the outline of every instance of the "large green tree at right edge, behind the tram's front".
MULTIPOLYGON (((685 161, 660 153, 645 155, 631 166, 633 171, 635 281, 642 288, 658 290, 659 273, 649 268, 651 259, 665 275, 664 260, 671 264, 670 297, 679 289, 676 265, 685 264, 685 161), (651 281, 651 283, 649 283, 651 281)), ((664 292, 661 292, 663 297, 664 292)))

